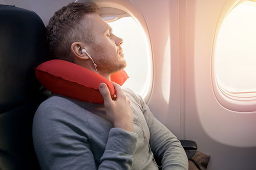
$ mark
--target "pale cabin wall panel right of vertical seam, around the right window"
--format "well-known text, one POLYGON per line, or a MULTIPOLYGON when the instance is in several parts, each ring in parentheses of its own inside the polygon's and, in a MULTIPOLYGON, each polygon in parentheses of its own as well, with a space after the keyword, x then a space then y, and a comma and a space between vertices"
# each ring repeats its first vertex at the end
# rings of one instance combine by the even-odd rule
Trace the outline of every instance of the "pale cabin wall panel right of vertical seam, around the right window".
POLYGON ((207 169, 255 169, 255 112, 224 108, 212 87, 212 45, 225 2, 186 1, 185 136, 211 156, 207 169))

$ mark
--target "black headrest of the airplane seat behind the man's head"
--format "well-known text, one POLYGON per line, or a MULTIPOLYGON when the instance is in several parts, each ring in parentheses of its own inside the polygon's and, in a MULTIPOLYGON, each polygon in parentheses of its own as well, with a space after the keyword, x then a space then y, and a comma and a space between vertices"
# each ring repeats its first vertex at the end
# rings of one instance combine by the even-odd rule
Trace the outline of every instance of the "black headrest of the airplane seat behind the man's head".
POLYGON ((35 12, 0 5, 0 113, 38 91, 33 67, 46 60, 47 49, 45 25, 35 12))

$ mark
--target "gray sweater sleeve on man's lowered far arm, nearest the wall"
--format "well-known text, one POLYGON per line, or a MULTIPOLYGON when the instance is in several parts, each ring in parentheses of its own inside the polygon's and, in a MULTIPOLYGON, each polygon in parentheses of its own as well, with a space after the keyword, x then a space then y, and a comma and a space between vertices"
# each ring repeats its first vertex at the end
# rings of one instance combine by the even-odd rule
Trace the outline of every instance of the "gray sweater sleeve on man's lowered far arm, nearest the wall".
POLYGON ((140 96, 139 98, 150 129, 151 149, 161 160, 162 169, 188 169, 188 159, 180 141, 154 117, 144 100, 140 96))

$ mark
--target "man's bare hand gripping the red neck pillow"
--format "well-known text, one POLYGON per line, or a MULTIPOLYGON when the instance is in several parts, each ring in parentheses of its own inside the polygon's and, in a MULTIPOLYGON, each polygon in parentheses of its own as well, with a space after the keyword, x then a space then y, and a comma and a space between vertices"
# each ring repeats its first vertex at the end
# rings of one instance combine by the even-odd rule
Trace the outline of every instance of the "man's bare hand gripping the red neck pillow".
POLYGON ((116 100, 112 100, 110 91, 105 83, 100 83, 99 91, 104 99, 106 119, 114 125, 115 128, 121 128, 133 132, 133 111, 130 101, 126 98, 121 87, 111 82, 116 90, 116 100))

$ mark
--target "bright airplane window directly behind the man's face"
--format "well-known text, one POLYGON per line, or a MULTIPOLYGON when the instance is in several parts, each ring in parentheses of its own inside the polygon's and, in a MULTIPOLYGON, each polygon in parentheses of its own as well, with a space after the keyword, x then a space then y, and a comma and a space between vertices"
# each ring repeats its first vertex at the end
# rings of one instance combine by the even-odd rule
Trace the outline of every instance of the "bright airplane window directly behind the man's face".
POLYGON ((108 22, 113 33, 123 39, 122 48, 127 66, 124 69, 130 77, 122 87, 145 95, 150 82, 152 63, 143 30, 132 17, 123 17, 108 22))

